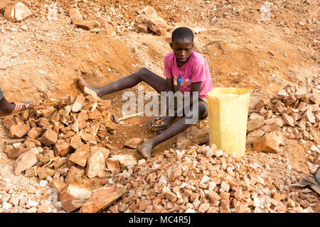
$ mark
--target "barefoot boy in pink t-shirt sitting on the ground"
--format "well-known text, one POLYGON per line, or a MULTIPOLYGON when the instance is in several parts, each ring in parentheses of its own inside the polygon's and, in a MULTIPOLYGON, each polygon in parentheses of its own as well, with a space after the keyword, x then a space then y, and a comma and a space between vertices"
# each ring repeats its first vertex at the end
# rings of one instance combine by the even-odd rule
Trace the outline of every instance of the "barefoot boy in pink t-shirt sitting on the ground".
POLYGON ((159 94, 161 92, 181 92, 183 99, 188 98, 190 100, 189 102, 184 101, 183 105, 178 106, 174 114, 168 114, 169 103, 167 101, 167 115, 161 116, 161 118, 155 116, 151 120, 149 127, 152 127, 154 131, 162 132, 155 138, 138 146, 137 150, 145 159, 151 158, 151 150, 156 145, 182 133, 191 124, 196 123, 198 119, 208 116, 207 93, 212 89, 212 80, 206 60, 193 50, 193 32, 186 27, 176 28, 172 33, 170 46, 173 51, 164 57, 164 76, 166 79, 146 68, 142 68, 104 87, 92 87, 82 77, 79 78, 79 87, 82 92, 84 87, 87 87, 96 92, 97 96, 104 96, 134 87, 140 82, 146 82, 159 94), (177 85, 174 85, 174 79, 177 85), (198 109, 196 113, 193 111, 194 108, 198 109), (171 125, 177 116, 181 116, 179 113, 184 115, 171 125), (196 114, 196 117, 194 114, 196 114), (159 119, 163 123, 154 126, 154 121, 159 119))

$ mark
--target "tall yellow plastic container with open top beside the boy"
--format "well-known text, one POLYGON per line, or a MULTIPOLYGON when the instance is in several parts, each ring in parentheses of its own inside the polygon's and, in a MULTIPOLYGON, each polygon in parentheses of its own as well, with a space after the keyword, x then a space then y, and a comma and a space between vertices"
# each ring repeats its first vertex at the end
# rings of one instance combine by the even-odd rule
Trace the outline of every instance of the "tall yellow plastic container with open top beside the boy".
POLYGON ((245 155, 249 98, 245 88, 218 87, 208 92, 210 144, 237 157, 245 155))

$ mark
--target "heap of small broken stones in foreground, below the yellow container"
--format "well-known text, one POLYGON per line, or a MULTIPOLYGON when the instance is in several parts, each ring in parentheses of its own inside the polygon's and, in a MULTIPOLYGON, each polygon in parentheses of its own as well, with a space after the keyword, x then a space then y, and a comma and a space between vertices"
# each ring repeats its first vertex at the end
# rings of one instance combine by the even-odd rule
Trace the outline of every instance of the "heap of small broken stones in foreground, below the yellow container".
POLYGON ((215 145, 165 150, 109 176, 128 192, 107 212, 312 212, 255 169, 215 145))

